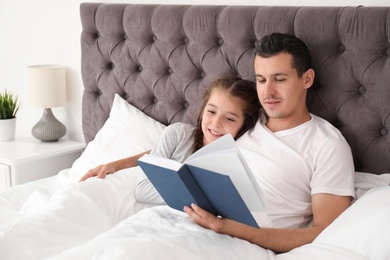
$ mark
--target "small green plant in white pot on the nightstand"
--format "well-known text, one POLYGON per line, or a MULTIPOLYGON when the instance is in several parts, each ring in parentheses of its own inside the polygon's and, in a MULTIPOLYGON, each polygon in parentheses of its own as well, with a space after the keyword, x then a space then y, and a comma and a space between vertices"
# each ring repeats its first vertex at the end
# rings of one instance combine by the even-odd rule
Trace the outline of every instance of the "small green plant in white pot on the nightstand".
POLYGON ((0 93, 0 141, 15 139, 16 113, 19 107, 17 95, 7 90, 0 93))

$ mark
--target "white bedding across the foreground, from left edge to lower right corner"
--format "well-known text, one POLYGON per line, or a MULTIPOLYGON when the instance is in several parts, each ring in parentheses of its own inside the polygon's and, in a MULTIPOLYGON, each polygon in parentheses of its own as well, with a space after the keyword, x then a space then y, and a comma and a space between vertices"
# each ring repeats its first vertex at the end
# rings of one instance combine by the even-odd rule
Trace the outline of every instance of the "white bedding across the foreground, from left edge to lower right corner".
POLYGON ((314 243, 276 255, 201 228, 168 206, 136 202, 137 171, 65 185, 65 170, 58 178, 4 192, 0 259, 390 259, 389 187, 364 195, 314 243), (379 229, 366 228, 362 239, 351 239, 378 214, 379 229), (352 219, 359 221, 353 225, 352 219), (365 247, 361 241, 375 243, 365 247))

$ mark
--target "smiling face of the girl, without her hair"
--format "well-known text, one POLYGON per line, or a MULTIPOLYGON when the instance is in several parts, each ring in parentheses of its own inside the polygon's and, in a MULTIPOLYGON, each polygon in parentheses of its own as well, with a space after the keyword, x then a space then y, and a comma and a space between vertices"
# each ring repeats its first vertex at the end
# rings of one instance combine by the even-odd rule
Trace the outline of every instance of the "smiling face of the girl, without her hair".
POLYGON ((244 124, 244 101, 225 90, 214 89, 203 110, 203 145, 231 134, 233 138, 244 124))

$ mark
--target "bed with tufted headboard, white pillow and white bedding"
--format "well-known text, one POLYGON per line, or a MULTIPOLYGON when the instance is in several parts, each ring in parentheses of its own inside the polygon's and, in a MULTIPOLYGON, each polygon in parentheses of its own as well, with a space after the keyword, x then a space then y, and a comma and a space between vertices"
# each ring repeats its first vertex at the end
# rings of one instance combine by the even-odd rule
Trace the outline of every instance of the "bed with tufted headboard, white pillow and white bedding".
POLYGON ((88 145, 71 168, 0 193, 1 259, 390 259, 390 7, 82 3, 80 16, 88 145), (254 44, 274 31, 307 43, 310 112, 353 152, 357 199, 313 243, 275 254, 137 202, 138 167, 78 182, 194 124, 215 78, 254 80, 254 44))

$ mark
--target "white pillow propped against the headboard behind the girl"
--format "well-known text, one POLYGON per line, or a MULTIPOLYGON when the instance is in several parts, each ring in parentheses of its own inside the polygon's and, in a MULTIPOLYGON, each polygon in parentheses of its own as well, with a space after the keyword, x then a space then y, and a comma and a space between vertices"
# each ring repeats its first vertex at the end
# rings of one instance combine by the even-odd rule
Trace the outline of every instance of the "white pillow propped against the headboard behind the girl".
POLYGON ((58 175, 61 184, 77 182, 99 164, 153 148, 165 126, 115 94, 110 116, 69 171, 58 175))

